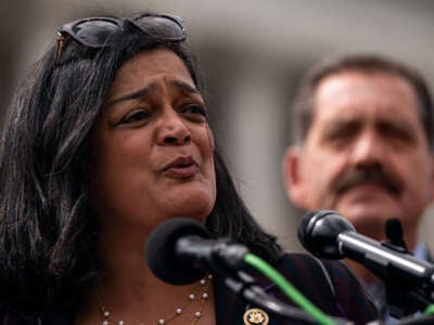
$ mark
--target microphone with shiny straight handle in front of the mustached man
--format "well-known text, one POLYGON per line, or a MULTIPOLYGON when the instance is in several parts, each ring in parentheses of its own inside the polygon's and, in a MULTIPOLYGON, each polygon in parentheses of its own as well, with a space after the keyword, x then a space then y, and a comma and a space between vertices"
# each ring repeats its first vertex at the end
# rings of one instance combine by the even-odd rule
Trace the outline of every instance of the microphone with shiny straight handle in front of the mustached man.
POLYGON ((324 259, 349 258, 399 287, 434 285, 434 265, 356 233, 344 217, 317 210, 303 217, 298 238, 312 255, 324 259))

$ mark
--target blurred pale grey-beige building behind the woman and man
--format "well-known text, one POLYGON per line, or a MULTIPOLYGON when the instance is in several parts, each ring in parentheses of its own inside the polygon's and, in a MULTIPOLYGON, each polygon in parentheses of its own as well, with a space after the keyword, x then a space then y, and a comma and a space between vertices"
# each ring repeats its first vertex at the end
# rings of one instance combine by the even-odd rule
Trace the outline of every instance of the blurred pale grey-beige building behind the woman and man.
MULTIPOLYGON (((248 207, 281 244, 299 250, 301 211, 286 200, 281 157, 289 103, 312 63, 376 52, 414 65, 434 89, 431 0, 0 0, 0 103, 9 104, 26 68, 56 27, 89 15, 143 9, 181 16, 208 86, 217 141, 248 207)), ((0 113, 1 113, 0 112, 0 113)), ((434 219, 422 234, 434 247, 434 219)))

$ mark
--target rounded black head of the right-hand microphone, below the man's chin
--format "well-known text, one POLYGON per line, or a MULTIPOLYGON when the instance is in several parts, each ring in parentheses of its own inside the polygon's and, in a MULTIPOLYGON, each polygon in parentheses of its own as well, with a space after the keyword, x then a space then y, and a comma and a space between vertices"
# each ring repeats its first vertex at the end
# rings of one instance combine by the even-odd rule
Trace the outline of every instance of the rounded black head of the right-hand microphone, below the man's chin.
POLYGON ((343 258, 337 236, 343 232, 356 232, 353 224, 332 210, 306 213, 298 226, 298 239, 312 255, 326 259, 343 258))

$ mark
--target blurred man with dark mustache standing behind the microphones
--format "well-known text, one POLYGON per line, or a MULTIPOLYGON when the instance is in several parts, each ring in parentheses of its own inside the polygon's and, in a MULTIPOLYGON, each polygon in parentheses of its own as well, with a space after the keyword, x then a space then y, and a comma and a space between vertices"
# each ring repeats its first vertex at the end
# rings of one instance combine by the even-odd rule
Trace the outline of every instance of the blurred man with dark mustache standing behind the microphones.
MULTIPOLYGON (((310 70, 292 108, 294 143, 283 160, 290 199, 335 210, 378 240, 385 221, 399 218, 409 250, 429 259, 418 237, 434 193, 433 107, 422 77, 388 58, 346 56, 310 70)), ((379 280, 348 263, 385 312, 379 280)))

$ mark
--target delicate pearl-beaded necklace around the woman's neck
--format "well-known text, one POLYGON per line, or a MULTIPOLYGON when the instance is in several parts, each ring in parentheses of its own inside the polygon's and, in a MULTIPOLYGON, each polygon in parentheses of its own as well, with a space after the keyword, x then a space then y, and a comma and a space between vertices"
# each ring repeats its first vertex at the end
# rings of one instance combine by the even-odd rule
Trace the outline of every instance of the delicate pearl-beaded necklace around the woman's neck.
MULTIPOLYGON (((167 324, 169 322, 171 322, 173 320, 175 320, 177 316, 181 315, 184 310, 193 302, 193 301, 197 301, 199 304, 199 310, 196 312, 194 312, 193 314, 193 320, 191 322, 191 325, 194 325, 199 322, 199 320, 202 317, 202 311, 204 308, 204 304, 206 302, 206 300, 208 299, 209 295, 208 295, 208 290, 209 290, 209 286, 212 284, 212 280, 213 276, 209 274, 207 275, 205 278, 202 278, 197 286, 195 286, 194 290, 192 294, 190 294, 187 297, 186 302, 183 302, 183 304, 181 304, 180 307, 176 308, 175 311, 173 313, 170 313, 169 315, 165 316, 165 317, 159 317, 158 321, 156 322, 157 325, 164 325, 167 324), (200 297, 199 299, 196 299, 197 297, 200 297)), ((97 297, 97 301, 98 301, 98 307, 101 311, 101 320, 102 320, 102 325, 110 325, 110 324, 118 324, 118 325, 126 325, 126 323, 124 321, 118 321, 113 322, 111 320, 111 313, 108 312, 108 310, 103 306, 100 295, 98 294, 97 288, 94 288, 94 294, 97 297)), ((139 325, 143 325, 144 323, 140 323, 139 325)))

